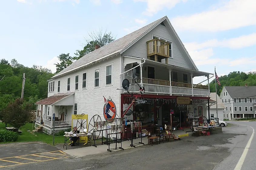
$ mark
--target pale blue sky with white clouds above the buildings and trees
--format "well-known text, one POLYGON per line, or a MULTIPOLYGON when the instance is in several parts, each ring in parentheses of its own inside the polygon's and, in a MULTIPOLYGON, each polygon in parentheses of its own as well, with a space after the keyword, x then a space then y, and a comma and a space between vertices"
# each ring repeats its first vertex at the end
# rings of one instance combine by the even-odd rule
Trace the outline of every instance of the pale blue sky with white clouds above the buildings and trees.
POLYGON ((254 0, 3 0, 0 59, 55 72, 57 56, 74 56, 90 31, 102 28, 118 39, 167 16, 200 71, 251 72, 255 9, 254 0))

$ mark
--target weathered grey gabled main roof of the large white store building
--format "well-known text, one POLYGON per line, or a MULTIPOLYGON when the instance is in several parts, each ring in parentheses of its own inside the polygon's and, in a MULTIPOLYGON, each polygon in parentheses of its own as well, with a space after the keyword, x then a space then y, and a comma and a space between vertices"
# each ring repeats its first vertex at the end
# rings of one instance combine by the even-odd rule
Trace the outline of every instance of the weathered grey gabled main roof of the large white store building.
POLYGON ((167 16, 158 19, 157 21, 152 22, 151 24, 146 25, 145 27, 142 27, 124 37, 119 38, 118 40, 115 40, 103 47, 98 48, 97 50, 94 50, 85 56, 81 57, 62 71, 58 72, 56 75, 54 75, 52 78, 61 76, 63 74, 66 74, 68 72, 77 70, 79 68, 82 68, 84 66, 88 66, 89 64, 92 64, 96 61, 99 61, 101 59, 104 59, 111 55, 117 55, 118 53, 121 54, 125 50, 127 50, 129 47, 131 47, 134 43, 136 43, 138 40, 140 40, 144 35, 146 35, 149 31, 154 29, 157 25, 161 24, 163 21, 165 21, 165 26, 169 28, 169 30, 174 32, 174 39, 177 40, 177 44, 181 47, 181 50, 185 53, 185 55, 188 56, 188 59, 194 66, 195 70, 198 70, 195 66, 193 60, 189 56, 187 50, 185 49, 183 43, 181 42, 180 38, 178 37, 178 34, 175 32, 174 28, 172 27, 169 19, 167 16))

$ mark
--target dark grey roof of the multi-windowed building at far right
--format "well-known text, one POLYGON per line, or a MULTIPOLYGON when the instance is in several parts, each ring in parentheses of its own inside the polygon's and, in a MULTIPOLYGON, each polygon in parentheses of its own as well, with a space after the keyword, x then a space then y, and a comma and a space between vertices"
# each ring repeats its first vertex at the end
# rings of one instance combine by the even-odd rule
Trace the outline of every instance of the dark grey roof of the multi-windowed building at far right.
POLYGON ((254 98, 256 86, 224 86, 231 98, 254 98))

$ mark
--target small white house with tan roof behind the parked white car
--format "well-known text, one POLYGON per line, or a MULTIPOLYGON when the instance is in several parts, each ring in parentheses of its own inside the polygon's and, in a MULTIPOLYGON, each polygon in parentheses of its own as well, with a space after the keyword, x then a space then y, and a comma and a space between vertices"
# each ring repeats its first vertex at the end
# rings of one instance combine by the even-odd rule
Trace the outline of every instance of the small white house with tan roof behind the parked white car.
MULTIPOLYGON (((211 100, 216 101, 216 93, 210 93, 211 100)), ((223 121, 225 119, 223 109, 226 108, 221 101, 221 98, 217 95, 217 104, 218 104, 218 118, 219 120, 223 121)), ((208 117, 208 109, 207 109, 207 117, 208 117)), ((217 117, 217 110, 216 110, 216 102, 210 104, 210 117, 217 117)))

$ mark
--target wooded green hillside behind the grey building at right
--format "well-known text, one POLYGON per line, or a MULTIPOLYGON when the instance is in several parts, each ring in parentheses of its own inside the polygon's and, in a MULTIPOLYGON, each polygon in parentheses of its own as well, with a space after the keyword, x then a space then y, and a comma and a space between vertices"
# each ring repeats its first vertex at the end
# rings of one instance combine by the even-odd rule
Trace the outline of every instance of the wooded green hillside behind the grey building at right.
MULTIPOLYGON (((219 81, 221 85, 217 84, 217 93, 220 95, 224 86, 244 86, 246 83, 248 86, 256 85, 255 73, 244 72, 230 72, 228 75, 220 76, 219 81)), ((210 91, 215 92, 215 79, 210 83, 210 91)))

